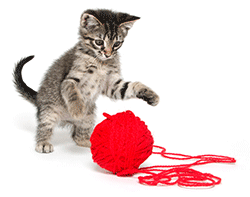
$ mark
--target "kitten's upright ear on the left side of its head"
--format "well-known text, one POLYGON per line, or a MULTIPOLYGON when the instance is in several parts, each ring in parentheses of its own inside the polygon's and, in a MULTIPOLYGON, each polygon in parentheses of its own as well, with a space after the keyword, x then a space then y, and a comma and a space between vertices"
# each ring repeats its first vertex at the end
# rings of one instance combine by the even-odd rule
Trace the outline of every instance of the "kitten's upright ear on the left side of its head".
POLYGON ((101 26, 101 22, 91 14, 83 13, 81 16, 81 27, 87 30, 93 30, 101 26))

